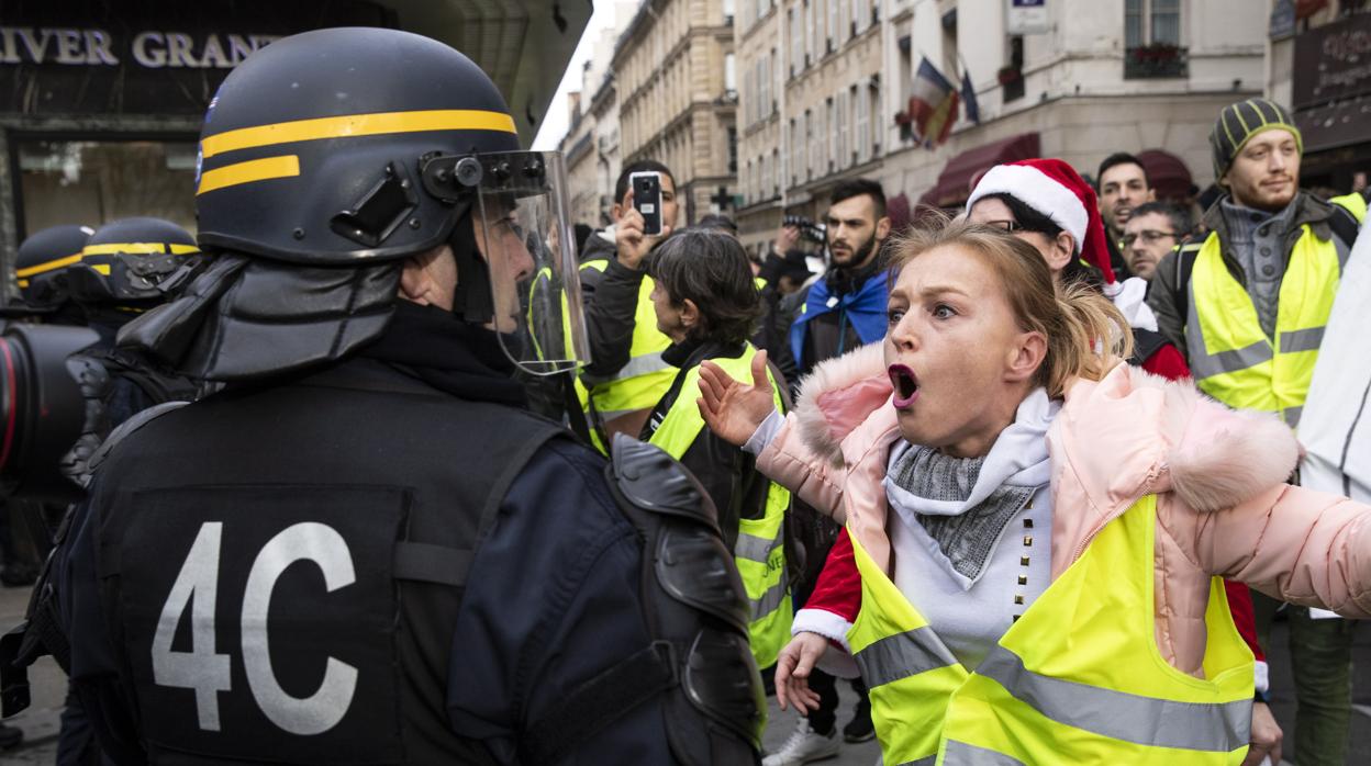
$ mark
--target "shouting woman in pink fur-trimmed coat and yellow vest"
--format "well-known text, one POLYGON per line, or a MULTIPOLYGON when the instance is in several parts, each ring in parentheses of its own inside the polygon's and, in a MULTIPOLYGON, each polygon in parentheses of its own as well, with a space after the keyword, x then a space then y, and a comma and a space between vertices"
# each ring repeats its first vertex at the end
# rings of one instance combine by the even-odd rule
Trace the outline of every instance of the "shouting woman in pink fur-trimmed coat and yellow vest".
POLYGON ((1252 654, 1219 577, 1367 617, 1371 507, 1286 485, 1274 417, 1123 363, 1117 310, 1026 243, 951 223, 895 269, 886 341, 788 419, 702 370, 710 428, 854 544, 856 622, 797 636, 777 696, 809 704, 805 667, 846 650, 890 765, 1242 763, 1252 654))

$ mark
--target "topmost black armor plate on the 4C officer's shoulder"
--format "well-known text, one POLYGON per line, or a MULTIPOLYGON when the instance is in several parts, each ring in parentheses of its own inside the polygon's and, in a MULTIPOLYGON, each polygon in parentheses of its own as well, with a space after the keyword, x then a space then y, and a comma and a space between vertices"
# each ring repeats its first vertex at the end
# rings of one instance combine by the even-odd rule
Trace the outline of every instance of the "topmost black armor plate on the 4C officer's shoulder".
POLYGON ((631 503, 718 530, 718 512, 699 480, 661 447, 618 433, 610 458, 614 482, 631 503))

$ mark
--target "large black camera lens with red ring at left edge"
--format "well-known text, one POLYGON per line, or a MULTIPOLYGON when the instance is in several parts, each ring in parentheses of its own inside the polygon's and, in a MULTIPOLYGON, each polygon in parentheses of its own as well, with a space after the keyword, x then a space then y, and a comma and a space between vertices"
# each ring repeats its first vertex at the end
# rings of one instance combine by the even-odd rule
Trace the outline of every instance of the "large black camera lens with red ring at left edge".
POLYGON ((14 323, 0 333, 0 496, 71 502, 60 470, 86 406, 69 360, 99 337, 86 328, 14 323))

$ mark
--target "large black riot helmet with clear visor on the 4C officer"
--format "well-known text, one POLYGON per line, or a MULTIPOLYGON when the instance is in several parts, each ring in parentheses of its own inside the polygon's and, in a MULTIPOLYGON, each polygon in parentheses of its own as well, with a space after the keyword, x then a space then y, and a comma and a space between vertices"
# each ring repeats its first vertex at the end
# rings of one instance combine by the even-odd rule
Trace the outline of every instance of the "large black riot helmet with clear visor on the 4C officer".
MULTIPOLYGON (((561 156, 521 151, 495 84, 441 42, 324 29, 258 51, 210 104, 197 178, 208 252, 293 264, 300 280, 398 270, 447 244, 454 311, 495 329, 515 363, 550 374, 588 359, 561 156)), ((393 282, 372 282, 350 306, 388 315, 393 282)))

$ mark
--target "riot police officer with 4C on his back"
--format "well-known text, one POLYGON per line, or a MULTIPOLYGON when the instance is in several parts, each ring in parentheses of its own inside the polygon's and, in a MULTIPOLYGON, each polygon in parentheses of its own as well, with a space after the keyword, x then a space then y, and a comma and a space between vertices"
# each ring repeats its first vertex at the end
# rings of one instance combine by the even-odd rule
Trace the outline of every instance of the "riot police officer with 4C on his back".
POLYGON ((210 258, 119 334, 223 389, 111 437, 58 551, 121 763, 747 763, 712 506, 521 410, 584 360, 562 164, 432 40, 254 53, 200 141, 210 258), (543 288, 528 289, 537 274, 543 288))

